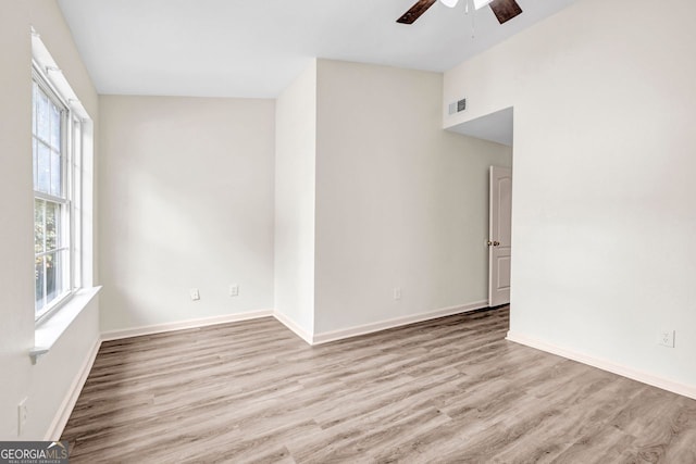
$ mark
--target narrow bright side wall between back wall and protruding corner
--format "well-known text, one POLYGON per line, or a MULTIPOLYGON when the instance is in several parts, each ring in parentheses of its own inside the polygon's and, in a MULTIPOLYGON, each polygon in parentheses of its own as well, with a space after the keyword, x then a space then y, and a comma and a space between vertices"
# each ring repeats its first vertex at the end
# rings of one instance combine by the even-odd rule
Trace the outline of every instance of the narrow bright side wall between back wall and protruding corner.
POLYGON ((276 101, 275 310, 314 330, 316 61, 276 101))

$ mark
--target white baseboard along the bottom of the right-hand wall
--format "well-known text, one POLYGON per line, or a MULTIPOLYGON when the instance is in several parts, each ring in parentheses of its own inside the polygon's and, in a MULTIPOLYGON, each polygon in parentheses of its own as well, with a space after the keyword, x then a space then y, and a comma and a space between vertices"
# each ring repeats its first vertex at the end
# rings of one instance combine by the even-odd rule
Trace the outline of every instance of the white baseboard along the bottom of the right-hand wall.
POLYGON ((572 350, 567 350, 564 348, 546 343, 544 341, 535 340, 533 338, 514 334, 512 331, 508 331, 508 336, 506 337, 506 339, 513 341, 515 343, 520 343, 526 347, 535 348, 537 350, 546 351, 547 353, 557 354, 568 360, 577 361, 579 363, 587 364, 589 366, 597 367, 599 369, 607 371, 612 374, 618 374, 622 377, 626 377, 632 380, 637 380, 639 383, 647 384, 652 387, 657 387, 662 390, 667 390, 672 393, 681 394, 683 397, 687 397, 696 400, 696 387, 694 386, 680 384, 673 380, 669 380, 662 377, 644 373, 642 371, 636 371, 634 368, 626 367, 621 364, 613 363, 611 361, 588 356, 586 354, 577 353, 572 350))

